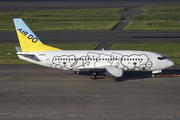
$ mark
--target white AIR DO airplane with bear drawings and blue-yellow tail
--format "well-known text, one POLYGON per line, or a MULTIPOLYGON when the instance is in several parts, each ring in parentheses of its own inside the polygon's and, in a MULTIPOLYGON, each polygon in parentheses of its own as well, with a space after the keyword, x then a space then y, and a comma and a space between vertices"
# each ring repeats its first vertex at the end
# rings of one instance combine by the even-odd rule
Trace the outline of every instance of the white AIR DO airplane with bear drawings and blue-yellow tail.
POLYGON ((25 61, 74 72, 89 71, 91 79, 99 73, 106 77, 123 77, 124 71, 160 73, 174 62, 161 54, 135 50, 62 50, 43 44, 21 18, 13 19, 20 47, 17 56, 25 61))

